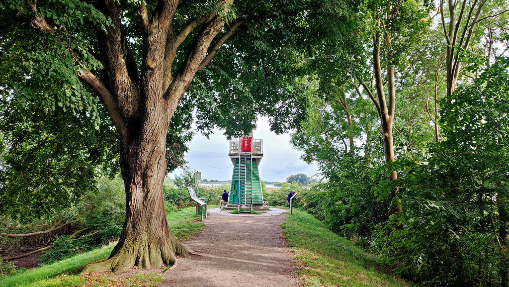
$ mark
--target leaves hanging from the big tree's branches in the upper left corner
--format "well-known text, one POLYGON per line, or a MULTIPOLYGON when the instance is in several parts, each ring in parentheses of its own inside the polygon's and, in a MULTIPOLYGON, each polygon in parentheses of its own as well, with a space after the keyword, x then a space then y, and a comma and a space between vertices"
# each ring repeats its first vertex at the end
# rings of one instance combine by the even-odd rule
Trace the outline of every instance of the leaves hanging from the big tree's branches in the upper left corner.
POLYGON ((90 53, 94 50, 88 34, 91 30, 72 32, 83 27, 104 29, 110 22, 80 1, 51 4, 39 7, 38 13, 53 27, 65 28, 55 34, 34 33, 26 19, 35 17, 36 12, 27 9, 26 3, 9 0, 0 5, 4 19, 0 29, 1 90, 4 97, 17 99, 23 108, 35 103, 48 111, 60 107, 74 114, 87 112, 99 124, 97 99, 78 81, 74 57, 91 70, 101 68, 101 64, 90 53))

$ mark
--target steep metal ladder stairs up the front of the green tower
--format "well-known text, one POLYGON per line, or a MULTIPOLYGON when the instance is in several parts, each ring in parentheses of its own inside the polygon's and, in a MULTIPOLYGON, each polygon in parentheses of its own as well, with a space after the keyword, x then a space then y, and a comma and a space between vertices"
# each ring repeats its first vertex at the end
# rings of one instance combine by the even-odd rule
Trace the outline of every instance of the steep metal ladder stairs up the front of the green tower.
POLYGON ((253 211, 253 194, 252 194, 252 153, 239 153, 239 213, 252 213, 253 211), (241 211, 240 206, 247 205, 250 211, 241 211))

